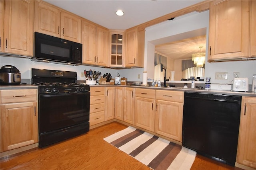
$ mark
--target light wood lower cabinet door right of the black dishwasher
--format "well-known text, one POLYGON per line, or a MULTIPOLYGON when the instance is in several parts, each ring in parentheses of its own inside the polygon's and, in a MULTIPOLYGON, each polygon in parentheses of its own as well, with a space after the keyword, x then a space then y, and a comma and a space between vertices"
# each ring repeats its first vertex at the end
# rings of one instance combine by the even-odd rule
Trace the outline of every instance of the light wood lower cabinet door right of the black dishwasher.
POLYGON ((256 98, 242 97, 237 162, 256 168, 256 98))

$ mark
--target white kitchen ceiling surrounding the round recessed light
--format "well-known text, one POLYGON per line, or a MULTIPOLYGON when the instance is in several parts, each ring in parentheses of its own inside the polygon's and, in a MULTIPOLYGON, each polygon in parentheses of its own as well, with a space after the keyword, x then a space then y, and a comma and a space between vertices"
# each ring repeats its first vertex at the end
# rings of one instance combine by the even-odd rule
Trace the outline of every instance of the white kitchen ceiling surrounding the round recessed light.
POLYGON ((203 0, 44 0, 108 29, 128 29, 203 0), (123 16, 116 11, 123 10, 123 16))

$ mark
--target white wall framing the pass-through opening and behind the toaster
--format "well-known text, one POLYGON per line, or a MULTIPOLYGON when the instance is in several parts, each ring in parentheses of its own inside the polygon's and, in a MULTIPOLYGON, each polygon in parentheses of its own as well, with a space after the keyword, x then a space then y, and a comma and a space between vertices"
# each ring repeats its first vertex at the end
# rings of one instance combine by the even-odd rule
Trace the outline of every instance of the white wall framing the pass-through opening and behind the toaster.
MULTIPOLYGON (((180 33, 193 31, 206 27, 206 56, 208 55, 208 32, 209 32, 209 11, 201 13, 191 13, 171 21, 164 21, 157 25, 146 28, 145 33, 145 60, 148 60, 145 70, 148 76, 154 76, 150 68, 154 66, 154 61, 150 55, 154 45, 160 44, 160 39, 177 35, 180 33)), ((207 61, 207 57, 206 57, 207 61)), ((230 83, 233 80, 233 72, 240 72, 240 77, 248 77, 249 84, 252 84, 252 75, 256 74, 256 61, 230 61, 221 63, 205 63, 205 77, 211 77, 212 83, 230 83), (216 80, 215 72, 228 72, 228 80, 216 80)))

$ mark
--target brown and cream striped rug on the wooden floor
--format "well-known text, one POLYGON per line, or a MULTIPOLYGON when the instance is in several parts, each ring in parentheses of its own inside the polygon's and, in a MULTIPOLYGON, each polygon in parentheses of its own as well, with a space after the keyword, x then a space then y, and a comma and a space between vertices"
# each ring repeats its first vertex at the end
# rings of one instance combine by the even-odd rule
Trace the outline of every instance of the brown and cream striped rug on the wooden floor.
POLYGON ((154 170, 189 170, 196 157, 194 150, 130 126, 104 140, 154 170))

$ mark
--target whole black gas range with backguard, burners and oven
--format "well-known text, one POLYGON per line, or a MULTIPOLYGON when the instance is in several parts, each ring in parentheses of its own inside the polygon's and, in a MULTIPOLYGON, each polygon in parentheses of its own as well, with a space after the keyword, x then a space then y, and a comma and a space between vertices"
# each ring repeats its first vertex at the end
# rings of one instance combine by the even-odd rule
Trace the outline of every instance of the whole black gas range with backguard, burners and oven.
POLYGON ((39 147, 89 131, 90 86, 76 72, 32 68, 38 85, 39 147))

